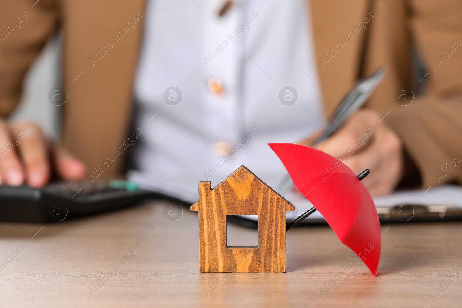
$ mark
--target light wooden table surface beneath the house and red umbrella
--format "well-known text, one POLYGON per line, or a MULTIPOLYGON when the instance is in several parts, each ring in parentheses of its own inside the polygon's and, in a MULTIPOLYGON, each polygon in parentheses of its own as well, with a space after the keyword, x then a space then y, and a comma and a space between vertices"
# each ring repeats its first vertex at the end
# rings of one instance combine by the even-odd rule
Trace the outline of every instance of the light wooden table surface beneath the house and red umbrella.
MULTIPOLYGON (((287 232, 286 273, 230 273, 224 277, 223 273, 199 272, 197 213, 183 206, 181 218, 170 221, 164 215, 170 205, 179 206, 157 201, 44 226, 0 223, 0 262, 7 264, 0 267, 0 306, 462 305, 462 277, 454 275, 462 274, 462 222, 382 225, 377 277, 362 261, 346 270, 346 265, 355 264, 356 255, 328 226, 287 232), (21 249, 21 244, 27 248, 21 249), (137 244, 142 248, 130 254, 137 244), (119 261, 122 265, 115 269, 119 261), (340 272, 343 278, 338 278, 340 272), (330 279, 338 282, 331 283, 329 290, 325 284, 330 279), (446 284, 445 288, 440 284, 446 284), (437 288, 441 290, 439 297, 437 288)), ((234 240, 255 237, 257 232, 236 225, 228 230, 232 230, 234 240)))

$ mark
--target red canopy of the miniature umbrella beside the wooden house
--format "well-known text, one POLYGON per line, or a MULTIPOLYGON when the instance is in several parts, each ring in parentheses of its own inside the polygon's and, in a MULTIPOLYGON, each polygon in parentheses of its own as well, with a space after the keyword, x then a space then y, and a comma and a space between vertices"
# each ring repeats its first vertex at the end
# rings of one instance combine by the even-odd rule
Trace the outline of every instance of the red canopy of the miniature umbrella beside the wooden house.
POLYGON ((326 219, 340 242, 364 261, 374 276, 380 260, 380 223, 371 194, 335 157, 309 146, 268 144, 293 184, 326 219))

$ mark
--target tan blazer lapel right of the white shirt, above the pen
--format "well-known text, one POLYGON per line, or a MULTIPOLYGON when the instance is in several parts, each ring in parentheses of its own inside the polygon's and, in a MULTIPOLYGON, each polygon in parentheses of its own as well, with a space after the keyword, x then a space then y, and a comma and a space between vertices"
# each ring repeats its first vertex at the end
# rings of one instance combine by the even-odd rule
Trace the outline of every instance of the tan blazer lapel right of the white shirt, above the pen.
POLYGON ((368 1, 308 0, 307 6, 311 14, 324 111, 328 116, 361 75, 359 69, 367 24, 364 30, 357 33, 354 30, 360 29, 358 23, 364 23, 363 18, 367 17, 368 1), (347 36, 350 31, 354 35, 347 36))

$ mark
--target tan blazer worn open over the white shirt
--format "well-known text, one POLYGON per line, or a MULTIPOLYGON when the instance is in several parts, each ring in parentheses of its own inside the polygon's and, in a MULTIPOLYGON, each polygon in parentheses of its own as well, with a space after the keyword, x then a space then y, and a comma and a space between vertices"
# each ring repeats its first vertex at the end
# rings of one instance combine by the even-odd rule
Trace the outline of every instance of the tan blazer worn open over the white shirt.
MULTIPOLYGON (((144 0, 5 1, 0 10, 0 115, 7 117, 16 107, 28 65, 61 24, 68 93, 62 143, 89 169, 106 161, 128 134, 146 5, 144 0), (130 29, 128 22, 136 26, 130 29), (120 31, 120 41, 106 47, 120 31), (96 64, 94 53, 99 55, 96 64)), ((454 162, 462 158, 462 2, 309 0, 307 5, 326 114, 357 79, 385 66, 386 78, 367 106, 386 115, 383 121, 401 136, 424 187, 461 183, 462 167, 454 162), (365 18, 369 21, 361 29, 365 18), (418 83, 425 83, 425 93, 401 106, 395 93, 412 86, 413 46, 429 73, 418 83)), ((104 175, 116 176, 121 162, 104 175)))

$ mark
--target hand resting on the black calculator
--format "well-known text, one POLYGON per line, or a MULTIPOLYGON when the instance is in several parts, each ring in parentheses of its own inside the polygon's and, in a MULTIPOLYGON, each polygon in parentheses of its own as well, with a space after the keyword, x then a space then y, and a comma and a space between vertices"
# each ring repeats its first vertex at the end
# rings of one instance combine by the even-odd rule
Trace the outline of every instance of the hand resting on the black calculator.
POLYGON ((52 168, 64 180, 80 180, 85 165, 53 145, 32 122, 0 119, 0 184, 43 187, 52 168))

